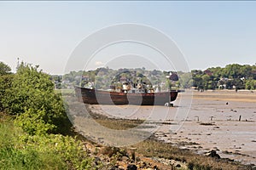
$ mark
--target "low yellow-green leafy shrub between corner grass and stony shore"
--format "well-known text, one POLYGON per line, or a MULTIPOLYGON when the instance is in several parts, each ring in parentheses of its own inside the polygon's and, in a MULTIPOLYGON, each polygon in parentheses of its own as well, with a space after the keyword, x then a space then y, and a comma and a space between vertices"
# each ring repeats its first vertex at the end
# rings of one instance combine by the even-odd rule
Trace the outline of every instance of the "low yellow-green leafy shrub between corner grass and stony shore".
MULTIPOLYGON (((20 136, 22 144, 38 150, 39 156, 49 161, 51 156, 59 156, 62 164, 65 162, 68 168, 90 169, 93 159, 88 156, 82 144, 72 137, 61 134, 42 135, 22 135, 20 136), (47 157, 44 157, 44 156, 47 157)), ((47 163, 49 164, 49 163, 47 163)))

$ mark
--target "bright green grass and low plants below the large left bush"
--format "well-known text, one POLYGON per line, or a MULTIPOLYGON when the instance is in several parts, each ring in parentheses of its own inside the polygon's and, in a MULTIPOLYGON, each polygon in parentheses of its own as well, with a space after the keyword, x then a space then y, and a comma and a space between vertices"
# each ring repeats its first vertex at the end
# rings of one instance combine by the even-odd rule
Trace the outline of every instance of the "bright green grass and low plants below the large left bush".
POLYGON ((0 169, 90 169, 92 161, 73 137, 31 136, 0 118, 0 169))

